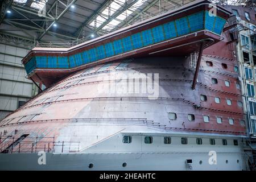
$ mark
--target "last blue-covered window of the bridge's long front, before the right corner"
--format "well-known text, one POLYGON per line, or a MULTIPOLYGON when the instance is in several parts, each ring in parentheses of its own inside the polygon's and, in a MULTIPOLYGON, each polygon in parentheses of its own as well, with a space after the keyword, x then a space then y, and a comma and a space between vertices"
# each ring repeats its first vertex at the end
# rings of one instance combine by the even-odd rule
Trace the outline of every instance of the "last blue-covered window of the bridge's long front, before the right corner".
POLYGON ((204 28, 204 12, 195 13, 188 16, 190 30, 192 32, 202 30, 204 28))

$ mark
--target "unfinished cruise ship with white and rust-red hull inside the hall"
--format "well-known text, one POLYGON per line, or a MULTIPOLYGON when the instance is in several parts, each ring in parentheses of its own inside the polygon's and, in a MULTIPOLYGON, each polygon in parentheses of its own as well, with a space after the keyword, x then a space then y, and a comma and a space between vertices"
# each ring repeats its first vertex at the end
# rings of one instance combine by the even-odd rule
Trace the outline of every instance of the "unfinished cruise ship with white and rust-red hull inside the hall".
POLYGON ((199 0, 32 49, 27 78, 46 89, 0 121, 0 169, 253 170, 254 16, 199 0))

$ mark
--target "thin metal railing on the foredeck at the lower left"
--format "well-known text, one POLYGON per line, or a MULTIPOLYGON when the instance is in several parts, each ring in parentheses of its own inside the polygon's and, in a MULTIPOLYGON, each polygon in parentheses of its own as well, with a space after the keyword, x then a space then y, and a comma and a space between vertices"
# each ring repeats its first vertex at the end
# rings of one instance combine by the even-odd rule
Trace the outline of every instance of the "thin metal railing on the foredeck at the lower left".
POLYGON ((78 152, 80 142, 56 142, 54 137, 0 138, 0 154, 36 153, 39 151, 69 153, 78 152))

